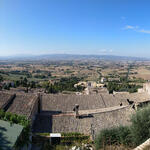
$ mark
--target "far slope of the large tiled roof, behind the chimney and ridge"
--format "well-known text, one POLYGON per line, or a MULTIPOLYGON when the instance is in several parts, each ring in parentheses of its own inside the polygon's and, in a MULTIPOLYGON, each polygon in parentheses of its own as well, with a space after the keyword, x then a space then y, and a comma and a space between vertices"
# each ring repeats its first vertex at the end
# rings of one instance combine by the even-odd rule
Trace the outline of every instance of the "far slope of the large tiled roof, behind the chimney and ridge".
POLYGON ((42 110, 44 111, 72 111, 75 104, 79 104, 79 110, 99 109, 128 105, 127 99, 134 102, 150 101, 148 93, 108 93, 91 95, 65 95, 44 94, 42 96, 42 110))

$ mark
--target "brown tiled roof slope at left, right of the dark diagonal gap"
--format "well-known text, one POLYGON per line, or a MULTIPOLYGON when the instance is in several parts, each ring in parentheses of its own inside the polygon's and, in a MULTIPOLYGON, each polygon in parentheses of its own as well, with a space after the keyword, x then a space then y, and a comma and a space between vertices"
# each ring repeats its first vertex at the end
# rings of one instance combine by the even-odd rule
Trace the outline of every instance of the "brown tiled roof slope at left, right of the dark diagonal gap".
POLYGON ((35 94, 17 94, 7 111, 29 118, 37 98, 38 96, 35 94))

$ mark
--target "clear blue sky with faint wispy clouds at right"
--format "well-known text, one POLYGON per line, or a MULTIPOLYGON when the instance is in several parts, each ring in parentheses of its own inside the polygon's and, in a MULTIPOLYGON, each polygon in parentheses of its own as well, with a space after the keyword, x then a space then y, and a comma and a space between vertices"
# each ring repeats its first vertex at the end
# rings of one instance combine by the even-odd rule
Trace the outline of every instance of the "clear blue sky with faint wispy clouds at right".
POLYGON ((150 57, 149 0, 0 0, 0 56, 150 57))

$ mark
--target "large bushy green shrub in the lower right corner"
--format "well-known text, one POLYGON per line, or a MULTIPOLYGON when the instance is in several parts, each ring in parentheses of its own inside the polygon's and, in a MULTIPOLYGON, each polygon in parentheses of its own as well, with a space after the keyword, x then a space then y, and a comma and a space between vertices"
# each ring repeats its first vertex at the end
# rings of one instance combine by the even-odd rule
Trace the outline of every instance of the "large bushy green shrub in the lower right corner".
POLYGON ((148 138, 150 138, 150 105, 139 109, 132 115, 130 127, 102 130, 95 140, 95 145, 97 149, 114 144, 135 147, 148 138))

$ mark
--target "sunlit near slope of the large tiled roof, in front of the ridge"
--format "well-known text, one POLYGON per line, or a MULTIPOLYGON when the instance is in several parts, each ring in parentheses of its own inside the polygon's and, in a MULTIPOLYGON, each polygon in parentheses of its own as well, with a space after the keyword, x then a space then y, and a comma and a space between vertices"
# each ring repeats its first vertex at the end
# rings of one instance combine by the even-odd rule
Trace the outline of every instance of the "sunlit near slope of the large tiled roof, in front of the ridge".
POLYGON ((52 117, 52 132, 81 132, 94 135, 105 128, 116 127, 119 125, 129 125, 130 115, 134 110, 129 106, 119 110, 93 114, 93 117, 75 118, 73 115, 55 115, 52 117))

